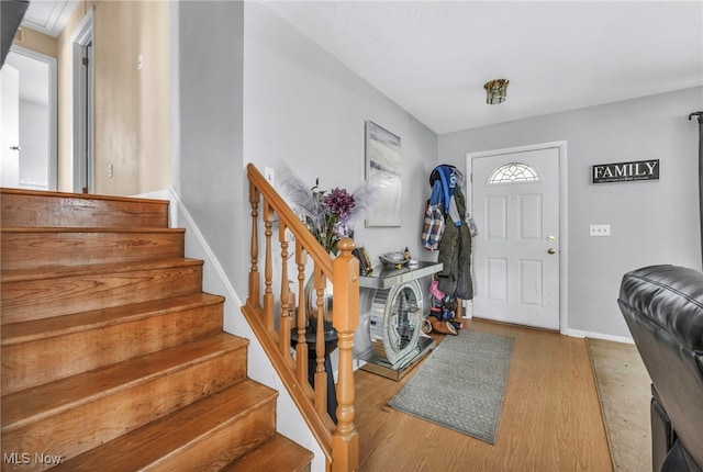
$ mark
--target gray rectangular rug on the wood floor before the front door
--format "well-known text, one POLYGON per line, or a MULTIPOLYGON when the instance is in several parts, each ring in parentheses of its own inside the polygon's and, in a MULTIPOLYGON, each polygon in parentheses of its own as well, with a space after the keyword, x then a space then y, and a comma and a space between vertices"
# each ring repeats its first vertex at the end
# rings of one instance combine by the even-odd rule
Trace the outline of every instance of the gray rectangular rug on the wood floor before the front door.
POLYGON ((389 405, 494 443, 513 341, 470 330, 445 336, 389 405))

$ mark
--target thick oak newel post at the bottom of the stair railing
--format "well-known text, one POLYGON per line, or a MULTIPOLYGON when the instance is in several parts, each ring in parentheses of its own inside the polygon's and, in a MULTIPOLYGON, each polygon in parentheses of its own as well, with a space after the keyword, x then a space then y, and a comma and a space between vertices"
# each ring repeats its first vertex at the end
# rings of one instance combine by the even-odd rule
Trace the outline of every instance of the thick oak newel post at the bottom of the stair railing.
POLYGON ((359 439, 354 426, 354 331, 359 325, 359 261, 352 251, 354 240, 342 239, 334 260, 333 325, 337 330, 339 371, 337 379, 337 428, 332 436, 334 472, 357 471, 359 439))

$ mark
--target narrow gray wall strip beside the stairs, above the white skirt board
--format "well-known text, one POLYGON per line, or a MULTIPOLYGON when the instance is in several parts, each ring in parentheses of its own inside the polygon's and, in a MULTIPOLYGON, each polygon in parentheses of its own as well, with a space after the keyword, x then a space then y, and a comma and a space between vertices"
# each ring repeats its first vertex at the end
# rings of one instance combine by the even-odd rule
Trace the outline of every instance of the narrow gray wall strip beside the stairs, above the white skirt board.
POLYGON ((244 5, 181 1, 171 10, 172 186, 243 293, 243 222, 250 220, 242 168, 244 5))

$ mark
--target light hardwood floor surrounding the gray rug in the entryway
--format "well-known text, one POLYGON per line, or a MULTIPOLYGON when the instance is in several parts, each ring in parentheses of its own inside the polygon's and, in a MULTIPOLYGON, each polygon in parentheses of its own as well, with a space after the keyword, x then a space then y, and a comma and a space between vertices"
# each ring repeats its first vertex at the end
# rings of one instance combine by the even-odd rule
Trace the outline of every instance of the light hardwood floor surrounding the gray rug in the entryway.
POLYGON ((412 372, 357 370, 360 471, 613 470, 584 339, 477 319, 465 329, 515 338, 495 445, 387 406, 412 372))

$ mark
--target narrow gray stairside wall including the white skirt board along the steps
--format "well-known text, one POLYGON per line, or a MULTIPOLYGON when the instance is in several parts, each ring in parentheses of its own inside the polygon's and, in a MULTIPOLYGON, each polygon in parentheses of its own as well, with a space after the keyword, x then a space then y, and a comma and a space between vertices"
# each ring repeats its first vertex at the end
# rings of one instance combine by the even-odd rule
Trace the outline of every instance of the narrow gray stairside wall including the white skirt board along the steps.
POLYGON ((169 9, 170 224, 186 228, 186 255, 204 260, 203 290, 225 296, 224 329, 250 340, 248 377, 279 392, 277 430, 312 451, 313 470, 323 471, 322 449, 239 311, 250 263, 242 156, 243 5, 181 1, 169 9))

